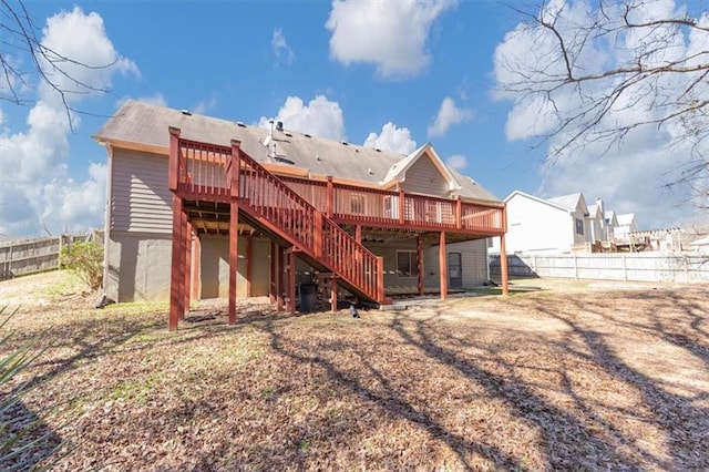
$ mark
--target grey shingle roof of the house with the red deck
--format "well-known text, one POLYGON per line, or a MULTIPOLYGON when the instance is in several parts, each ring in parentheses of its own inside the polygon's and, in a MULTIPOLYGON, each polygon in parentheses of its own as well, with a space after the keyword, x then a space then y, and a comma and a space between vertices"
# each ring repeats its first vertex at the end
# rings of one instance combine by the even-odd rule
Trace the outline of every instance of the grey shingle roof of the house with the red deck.
MULTIPOLYGON (((132 100, 121 106, 116 114, 96 132, 94 138, 102 143, 110 142, 119 147, 122 144, 138 144, 161 148, 167 154, 169 126, 179 129, 181 136, 188 140, 225 146, 228 146, 232 140, 240 141, 242 150, 256 161, 277 164, 268 157, 273 148, 261 144, 269 134, 267 129, 132 100)), ((399 170, 408 168, 418 156, 417 152, 420 153, 425 147, 424 145, 405 156, 289 130, 274 131, 273 143, 276 144, 277 156, 294 163, 292 165, 282 164, 284 166, 374 185, 381 185, 399 176, 399 170)), ((442 165, 445 166, 445 164, 442 165)), ((500 202, 472 178, 463 177, 448 166, 445 168, 461 185, 458 193, 462 197, 500 202)))

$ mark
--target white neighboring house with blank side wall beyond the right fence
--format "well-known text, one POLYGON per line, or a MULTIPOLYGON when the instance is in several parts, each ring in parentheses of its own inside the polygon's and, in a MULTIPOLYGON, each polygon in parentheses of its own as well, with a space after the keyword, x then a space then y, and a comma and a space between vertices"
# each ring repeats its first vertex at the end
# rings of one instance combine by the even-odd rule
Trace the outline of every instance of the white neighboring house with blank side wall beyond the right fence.
MULTIPOLYGON (((506 253, 571 253, 592 242, 589 211, 580 193, 544 199, 514 191, 504 202, 506 253)), ((499 250, 495 238, 490 252, 499 250)))

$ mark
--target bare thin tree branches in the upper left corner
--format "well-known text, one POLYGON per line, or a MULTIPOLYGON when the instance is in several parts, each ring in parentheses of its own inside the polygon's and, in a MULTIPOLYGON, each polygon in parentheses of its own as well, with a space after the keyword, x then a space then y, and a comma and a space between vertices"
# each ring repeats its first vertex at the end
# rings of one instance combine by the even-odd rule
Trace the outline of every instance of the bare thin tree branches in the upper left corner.
POLYGON ((82 80, 80 71, 107 69, 115 61, 89 64, 69 58, 43 42, 41 32, 23 0, 0 0, 0 101, 33 105, 37 86, 47 85, 61 99, 71 125, 71 112, 81 112, 72 96, 109 92, 82 80))

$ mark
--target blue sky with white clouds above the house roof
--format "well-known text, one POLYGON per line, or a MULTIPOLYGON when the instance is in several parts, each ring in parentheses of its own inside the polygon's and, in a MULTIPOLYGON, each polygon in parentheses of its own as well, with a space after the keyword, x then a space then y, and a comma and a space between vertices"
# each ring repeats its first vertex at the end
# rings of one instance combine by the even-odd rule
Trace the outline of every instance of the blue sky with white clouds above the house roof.
MULTIPOLYGON (((111 93, 71 99, 86 112, 72 121, 73 132, 37 103, 0 102, 0 239, 103 225, 106 154, 91 136, 126 99, 254 124, 278 117, 286 127, 401 152, 430 141, 500 198, 514 189, 542 197, 583 192, 589 204, 600 196, 606 208, 637 213, 643 228, 695 217, 693 207, 675 206, 682 195, 659 189, 661 165, 641 182, 623 155, 579 155, 573 172, 566 163, 542 165, 546 148, 531 148, 530 133, 515 134, 513 113, 523 114, 493 92, 495 51, 512 44, 520 22, 497 1, 28 0, 27 7, 44 29, 41 38, 115 65, 95 79, 111 93)), ((19 53, 14 60, 28 65, 19 53)), ((52 103, 35 78, 23 93, 52 103)))

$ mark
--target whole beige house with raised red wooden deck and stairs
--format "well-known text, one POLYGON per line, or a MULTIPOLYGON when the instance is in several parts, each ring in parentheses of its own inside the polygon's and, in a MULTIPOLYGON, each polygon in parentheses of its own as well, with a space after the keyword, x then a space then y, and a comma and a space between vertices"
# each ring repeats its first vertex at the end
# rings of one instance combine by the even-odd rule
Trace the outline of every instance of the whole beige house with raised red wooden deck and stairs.
MULTIPOLYGON (((109 155, 106 296, 171 300, 169 328, 201 298, 269 296, 296 310, 316 286, 387 304, 487 280, 485 238, 505 206, 410 155, 129 101, 94 138, 109 155)), ((503 247, 504 249, 504 247, 503 247)), ((506 270, 503 270, 506 291, 506 270)))

